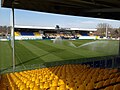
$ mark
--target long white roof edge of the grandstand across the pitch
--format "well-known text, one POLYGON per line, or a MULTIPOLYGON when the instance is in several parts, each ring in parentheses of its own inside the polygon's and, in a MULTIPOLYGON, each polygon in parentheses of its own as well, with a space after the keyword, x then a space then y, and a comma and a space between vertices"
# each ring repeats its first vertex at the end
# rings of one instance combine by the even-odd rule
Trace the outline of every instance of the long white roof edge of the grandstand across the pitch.
MULTIPOLYGON (((15 28, 27 28, 27 29, 43 29, 43 30, 55 30, 55 27, 41 27, 41 26, 20 26, 20 25, 15 25, 15 28)), ((79 30, 79 31, 97 31, 97 29, 85 29, 85 28, 62 28, 60 27, 61 30, 79 30)))

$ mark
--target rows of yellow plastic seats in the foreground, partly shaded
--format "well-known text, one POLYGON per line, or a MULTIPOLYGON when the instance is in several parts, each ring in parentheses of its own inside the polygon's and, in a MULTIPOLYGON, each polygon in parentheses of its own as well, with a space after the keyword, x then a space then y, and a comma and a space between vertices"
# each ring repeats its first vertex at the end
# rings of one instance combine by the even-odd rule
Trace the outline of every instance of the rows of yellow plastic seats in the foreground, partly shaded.
POLYGON ((120 88, 118 69, 91 68, 80 64, 15 72, 4 76, 8 85, 6 90, 119 90, 120 88))

